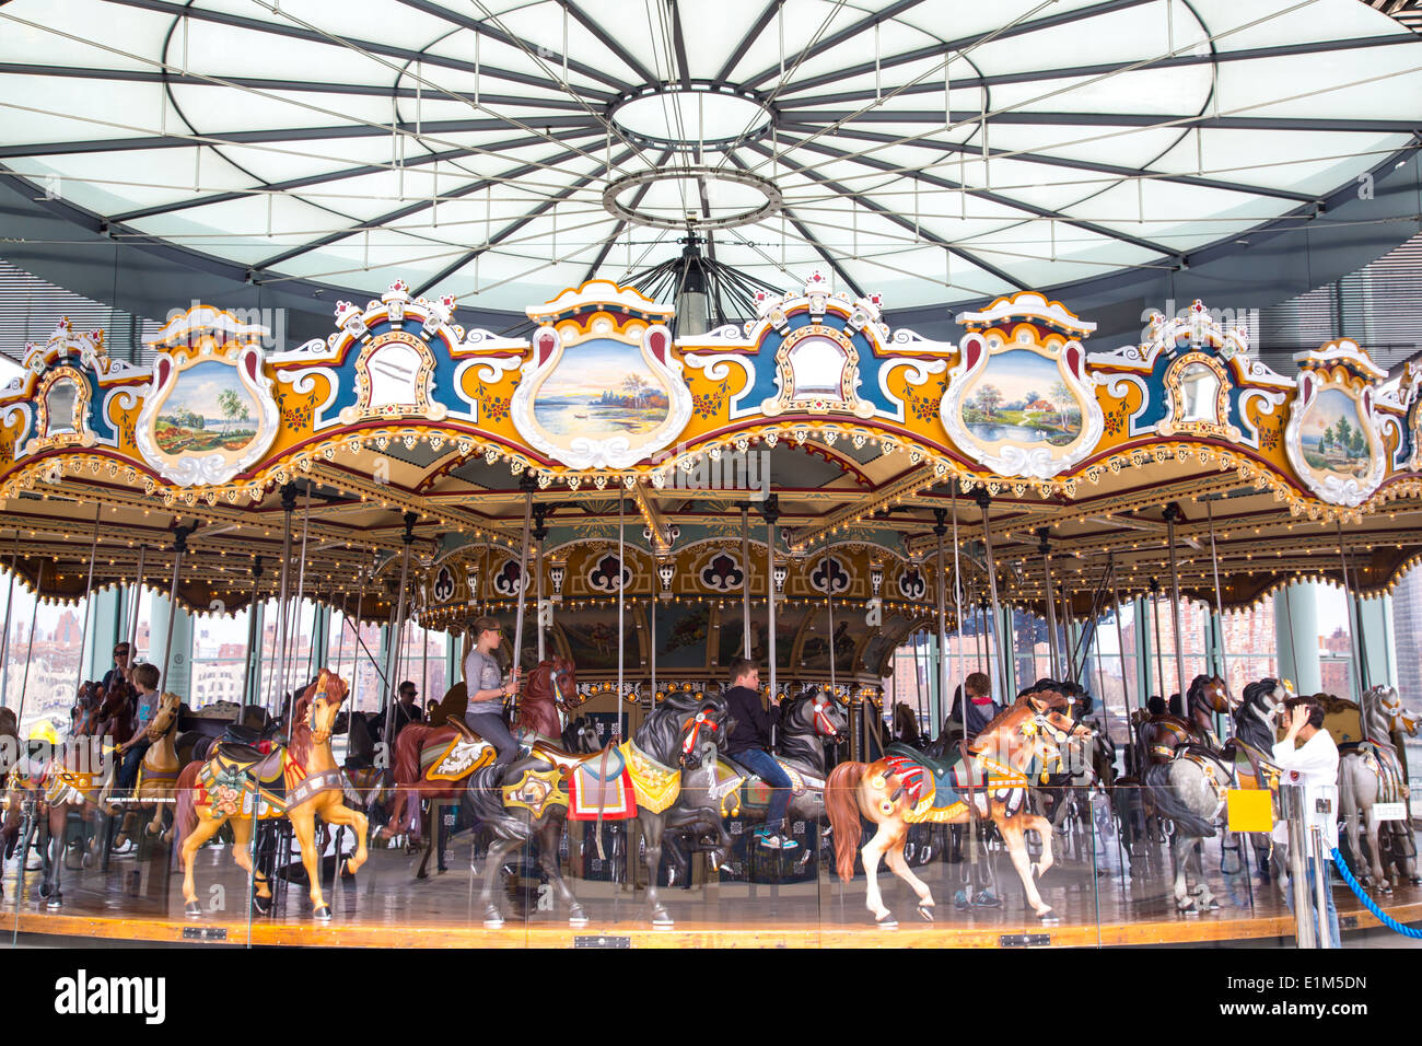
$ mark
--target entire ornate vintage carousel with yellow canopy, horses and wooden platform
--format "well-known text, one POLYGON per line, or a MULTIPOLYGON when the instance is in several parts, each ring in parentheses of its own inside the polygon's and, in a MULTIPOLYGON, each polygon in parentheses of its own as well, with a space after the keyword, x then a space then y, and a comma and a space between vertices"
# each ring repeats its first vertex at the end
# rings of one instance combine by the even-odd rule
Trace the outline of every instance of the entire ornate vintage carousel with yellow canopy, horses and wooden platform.
MULTIPOLYGON (((1422 367, 1386 380, 1335 340, 1277 373, 1199 302, 1096 352, 1089 319, 1030 292, 934 342, 819 273, 704 334, 674 336, 670 307, 602 280, 530 306, 526 337, 465 330, 455 306, 397 280, 276 353, 195 306, 152 367, 68 322, 30 346, 0 396, 0 555, 18 583, 61 602, 149 586, 195 613, 266 605, 277 642, 247 645, 240 702, 195 707, 165 686, 171 626, 154 635, 146 750, 111 736, 115 704, 144 700, 122 682, 77 679, 70 734, 47 747, 21 685, 0 874, 14 932, 1293 934, 1268 844, 1293 683, 1233 679, 1217 622, 1303 579, 1378 596, 1416 562, 1422 367), (1122 608, 1140 599, 1158 657, 1166 639, 1185 649, 1187 606, 1209 608, 1202 672, 1177 656, 1128 673, 1103 653, 1125 650, 1122 608), (303 601, 340 615, 340 655, 330 635, 297 655, 303 601), (1041 679, 1014 649, 1024 613, 1045 622, 1041 679), (499 625, 492 656, 516 680, 509 763, 464 723, 479 680, 401 722, 401 643, 357 632, 417 622, 451 633, 462 665, 478 619, 499 625), (930 652, 916 692, 896 682, 906 646, 916 665, 930 652), (742 660, 779 703, 778 848, 757 834, 771 788, 725 751, 742 660), (356 686, 364 666, 374 692, 356 686), (997 714, 964 737, 953 696, 975 673, 997 714), (1146 709, 1172 692, 1177 714, 1146 709), (122 787, 129 751, 142 766, 122 787)), ((1362 699, 1324 696, 1372 901, 1338 887, 1345 934, 1422 919, 1415 696, 1372 677, 1381 636, 1354 640, 1362 699)))

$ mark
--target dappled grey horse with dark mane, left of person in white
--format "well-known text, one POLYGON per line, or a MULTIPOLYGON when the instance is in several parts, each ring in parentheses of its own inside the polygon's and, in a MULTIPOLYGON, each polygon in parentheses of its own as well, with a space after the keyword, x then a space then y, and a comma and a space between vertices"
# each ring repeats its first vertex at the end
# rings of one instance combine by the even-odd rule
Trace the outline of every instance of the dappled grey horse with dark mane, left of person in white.
MULTIPOLYGON (((1229 790, 1237 787, 1234 750, 1221 747, 1214 736, 1212 714, 1233 713, 1234 704, 1219 676, 1196 676, 1186 693, 1189 740, 1175 743, 1158 737, 1148 749, 1152 761, 1142 774, 1143 798, 1155 813, 1175 825, 1170 852, 1175 860, 1175 904, 1185 914, 1219 908, 1204 875, 1204 840, 1224 825, 1229 790), (1194 889, 1190 891, 1190 878, 1194 889)), ((1150 722, 1158 722, 1156 716, 1150 722)), ((1149 737, 1149 734, 1146 734, 1149 737)), ((1224 828, 1224 837, 1231 833, 1224 828)), ((1221 845, 1229 844, 1221 840, 1221 845)))

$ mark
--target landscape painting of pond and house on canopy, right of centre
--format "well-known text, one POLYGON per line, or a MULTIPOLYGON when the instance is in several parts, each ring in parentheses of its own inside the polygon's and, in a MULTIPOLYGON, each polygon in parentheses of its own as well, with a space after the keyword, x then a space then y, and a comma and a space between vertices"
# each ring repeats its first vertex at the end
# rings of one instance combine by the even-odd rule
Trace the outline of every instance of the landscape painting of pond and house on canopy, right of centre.
POLYGON ((973 379, 963 397, 963 424, 988 444, 1065 447, 1081 435, 1081 406, 1055 360, 1010 349, 973 379))

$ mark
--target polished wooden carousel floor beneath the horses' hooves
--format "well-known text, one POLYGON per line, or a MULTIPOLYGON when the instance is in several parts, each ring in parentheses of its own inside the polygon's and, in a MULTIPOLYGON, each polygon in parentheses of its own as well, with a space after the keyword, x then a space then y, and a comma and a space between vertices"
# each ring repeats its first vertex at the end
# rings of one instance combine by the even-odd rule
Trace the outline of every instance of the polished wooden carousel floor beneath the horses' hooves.
MULTIPOLYGON (((287 887, 273 916, 247 918, 243 898, 246 877, 232 864, 226 848, 201 854, 198 897, 208 912, 201 919, 182 914, 181 875, 171 872, 162 851, 114 858, 111 870, 71 870, 64 878, 64 907, 48 911, 38 899, 37 871, 24 874, 16 889, 17 860, 4 865, 4 902, 0 928, 14 935, 58 935, 90 941, 149 941, 229 945, 343 945, 371 948, 818 948, 818 946, 934 946, 1003 948, 1041 945, 1192 945, 1291 938, 1293 918, 1274 885, 1256 877, 1220 875, 1217 844, 1209 882, 1220 908, 1186 916, 1175 911, 1170 884, 1155 871, 1136 879, 1123 877, 1119 854, 1102 848, 1095 857, 1099 874, 1086 858, 1062 861, 1041 881, 1042 895, 1061 921, 1042 925, 1030 915, 1021 885, 1004 857, 997 858, 1003 908, 954 911, 960 888, 958 864, 930 862, 916 870, 933 889, 936 921, 914 912, 912 892, 887 872, 880 872, 884 899, 903 919, 896 929, 872 925, 865 908, 863 874, 840 884, 822 865, 818 878, 793 885, 720 882, 691 889, 664 889, 663 898, 675 925, 653 928, 646 919, 644 891, 610 882, 570 879, 592 922, 567 924, 566 911, 539 911, 532 889, 519 889, 505 878, 496 894, 506 924, 483 926, 478 904, 482 885, 469 871, 469 845, 451 848, 454 870, 429 879, 415 879, 415 860, 402 851, 381 850, 354 881, 327 889, 334 918, 316 922, 304 887, 287 887), (1251 889, 1250 889, 1251 887, 1251 889), (17 892, 21 897, 14 904, 17 892), (532 911, 526 911, 532 908, 532 911)), ((31 855, 31 865, 36 858, 31 855)), ((482 867, 482 861, 481 861, 482 867)), ((330 878, 327 878, 330 882, 330 878)), ((1376 919, 1347 887, 1335 888, 1335 904, 1349 931, 1376 926, 1376 919)), ((1422 888, 1402 887, 1379 898, 1399 922, 1422 922, 1422 888)))

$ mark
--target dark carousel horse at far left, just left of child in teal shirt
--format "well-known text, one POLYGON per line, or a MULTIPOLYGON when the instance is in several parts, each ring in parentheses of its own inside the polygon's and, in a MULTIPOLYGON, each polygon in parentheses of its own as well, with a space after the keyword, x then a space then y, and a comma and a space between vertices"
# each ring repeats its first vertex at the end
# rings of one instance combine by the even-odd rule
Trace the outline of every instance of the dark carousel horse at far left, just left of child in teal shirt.
MULTIPOLYGON (((44 767, 41 810, 37 818, 47 831, 44 842, 44 881, 40 897, 47 908, 61 908, 61 871, 64 867, 65 828, 70 811, 80 813, 80 862, 90 867, 94 850, 108 835, 108 797, 114 787, 118 756, 108 737, 101 733, 101 713, 111 706, 102 703, 97 687, 81 692, 70 712, 70 739, 63 751, 55 753, 44 767), (90 828, 94 828, 92 837, 90 828)), ((28 840, 24 852, 28 850, 28 840)))

